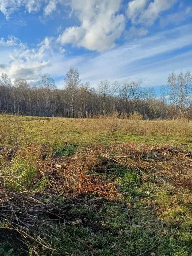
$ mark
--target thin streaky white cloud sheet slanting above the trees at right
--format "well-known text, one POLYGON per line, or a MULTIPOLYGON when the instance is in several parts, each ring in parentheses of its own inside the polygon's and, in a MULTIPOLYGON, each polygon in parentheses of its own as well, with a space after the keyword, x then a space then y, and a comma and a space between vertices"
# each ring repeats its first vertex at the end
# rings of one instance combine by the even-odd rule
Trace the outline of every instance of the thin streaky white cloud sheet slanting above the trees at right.
POLYGON ((94 86, 99 80, 113 82, 130 78, 139 78, 143 85, 157 86, 166 81, 173 69, 192 69, 191 52, 177 53, 174 57, 174 51, 191 44, 192 27, 186 25, 134 40, 95 58, 85 58, 76 66, 82 82, 90 81, 94 86))

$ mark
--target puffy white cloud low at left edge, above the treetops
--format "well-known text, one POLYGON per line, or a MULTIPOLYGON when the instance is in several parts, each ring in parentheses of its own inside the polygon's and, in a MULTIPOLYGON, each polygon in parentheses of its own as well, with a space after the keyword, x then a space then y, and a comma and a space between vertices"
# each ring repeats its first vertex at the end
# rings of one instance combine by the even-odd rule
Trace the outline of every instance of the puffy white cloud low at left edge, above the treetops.
POLYGON ((7 63, 0 64, 0 70, 6 72, 12 79, 21 77, 27 81, 35 81, 42 70, 51 65, 49 58, 53 52, 52 38, 45 37, 36 48, 32 49, 28 49, 26 45, 23 47, 21 41, 13 36, 7 41, 0 39, 0 45, 14 48, 11 52, 7 50, 7 63))

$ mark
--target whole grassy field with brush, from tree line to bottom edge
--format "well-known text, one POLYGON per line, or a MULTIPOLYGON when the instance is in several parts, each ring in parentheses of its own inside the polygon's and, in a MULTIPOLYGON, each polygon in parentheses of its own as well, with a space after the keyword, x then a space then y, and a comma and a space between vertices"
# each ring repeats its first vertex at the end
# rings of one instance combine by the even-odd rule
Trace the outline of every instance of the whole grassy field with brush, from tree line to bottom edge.
POLYGON ((192 255, 192 122, 0 116, 0 255, 192 255))

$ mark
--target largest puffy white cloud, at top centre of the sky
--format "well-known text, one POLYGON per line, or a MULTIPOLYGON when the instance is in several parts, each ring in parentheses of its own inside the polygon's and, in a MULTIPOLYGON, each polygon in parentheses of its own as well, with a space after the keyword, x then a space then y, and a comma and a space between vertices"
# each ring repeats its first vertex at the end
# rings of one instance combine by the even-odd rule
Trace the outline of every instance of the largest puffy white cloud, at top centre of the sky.
POLYGON ((71 8, 81 25, 66 28, 58 42, 97 51, 112 48, 125 27, 124 15, 117 14, 121 2, 122 0, 72 0, 71 8))

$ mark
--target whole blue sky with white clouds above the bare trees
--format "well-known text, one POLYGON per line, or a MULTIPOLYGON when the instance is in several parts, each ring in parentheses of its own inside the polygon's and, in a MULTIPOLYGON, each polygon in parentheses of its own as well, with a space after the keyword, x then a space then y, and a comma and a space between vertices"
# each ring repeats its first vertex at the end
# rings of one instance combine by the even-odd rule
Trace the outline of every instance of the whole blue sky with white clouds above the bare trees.
POLYGON ((70 67, 82 82, 136 81, 156 91, 192 71, 192 0, 0 0, 0 74, 58 88, 70 67))

